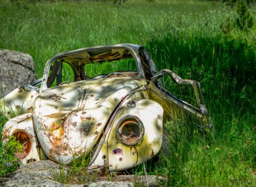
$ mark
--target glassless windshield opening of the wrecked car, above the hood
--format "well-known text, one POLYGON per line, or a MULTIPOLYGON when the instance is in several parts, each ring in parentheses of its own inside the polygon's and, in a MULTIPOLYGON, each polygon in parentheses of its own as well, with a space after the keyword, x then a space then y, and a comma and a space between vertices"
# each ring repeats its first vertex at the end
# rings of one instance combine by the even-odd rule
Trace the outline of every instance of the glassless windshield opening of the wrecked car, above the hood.
POLYGON ((68 54, 49 68, 47 87, 92 78, 137 77, 137 61, 126 48, 106 48, 68 54))

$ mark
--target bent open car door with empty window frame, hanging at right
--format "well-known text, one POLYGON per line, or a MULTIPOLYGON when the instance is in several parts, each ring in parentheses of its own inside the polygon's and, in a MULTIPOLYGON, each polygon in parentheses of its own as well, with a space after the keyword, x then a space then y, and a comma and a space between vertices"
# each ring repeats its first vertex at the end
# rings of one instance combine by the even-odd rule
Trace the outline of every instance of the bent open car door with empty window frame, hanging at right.
MULTIPOLYGON (((151 78, 148 83, 148 91, 151 99, 162 105, 166 120, 188 117, 189 121, 201 128, 210 128, 212 126, 201 94, 200 83, 196 80, 181 79, 173 71, 164 69, 151 78), (195 101, 188 103, 182 98, 178 98, 175 95, 175 91, 177 91, 174 88, 175 84, 178 87, 182 85, 190 86, 192 88, 191 95, 193 95, 195 101)), ((183 97, 182 93, 180 96, 183 97)), ((189 97, 184 98, 190 99, 189 97)))

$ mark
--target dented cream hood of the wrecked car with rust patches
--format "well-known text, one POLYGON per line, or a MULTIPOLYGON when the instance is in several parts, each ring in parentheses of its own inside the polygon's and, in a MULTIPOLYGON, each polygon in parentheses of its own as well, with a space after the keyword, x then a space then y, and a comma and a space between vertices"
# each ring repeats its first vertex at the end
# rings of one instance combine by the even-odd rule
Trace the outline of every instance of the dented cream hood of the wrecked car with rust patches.
POLYGON ((40 145, 56 162, 88 154, 112 112, 132 90, 142 85, 131 78, 84 80, 50 88, 34 103, 34 125, 40 145))

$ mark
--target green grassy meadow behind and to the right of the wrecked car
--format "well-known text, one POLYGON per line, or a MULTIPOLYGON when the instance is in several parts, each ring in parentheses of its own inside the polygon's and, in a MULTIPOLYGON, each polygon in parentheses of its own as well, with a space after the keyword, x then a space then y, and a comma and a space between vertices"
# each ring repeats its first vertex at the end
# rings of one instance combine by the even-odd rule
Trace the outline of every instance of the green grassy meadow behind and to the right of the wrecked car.
MULTIPOLYGON (((250 10, 256 15, 255 6, 250 10)), ((146 46, 158 70, 199 80, 213 122, 210 133, 182 119, 166 122, 170 150, 147 162, 147 174, 166 176, 166 186, 255 186, 256 25, 222 32, 236 16, 220 1, 2 0, 0 49, 30 54, 40 78, 47 59, 59 52, 124 42, 146 46)), ((0 115, 0 130, 6 120, 0 115)), ((131 172, 144 175, 142 165, 131 172)))

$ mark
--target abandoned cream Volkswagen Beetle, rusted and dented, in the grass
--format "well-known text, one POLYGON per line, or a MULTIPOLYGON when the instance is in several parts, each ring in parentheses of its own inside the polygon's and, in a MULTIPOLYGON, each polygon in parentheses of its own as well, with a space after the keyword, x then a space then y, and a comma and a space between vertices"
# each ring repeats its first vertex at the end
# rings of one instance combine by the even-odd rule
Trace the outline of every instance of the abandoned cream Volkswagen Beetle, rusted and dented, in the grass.
POLYGON ((171 70, 157 72, 140 45, 117 44, 59 53, 43 77, 0 101, 6 116, 2 141, 14 136, 24 146, 23 164, 51 159, 71 163, 90 156, 89 168, 119 171, 153 158, 162 146, 163 123, 185 114, 209 128, 209 114, 196 80, 171 70), (168 91, 162 81, 189 84, 196 106, 168 91))

